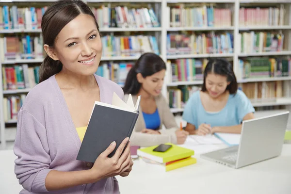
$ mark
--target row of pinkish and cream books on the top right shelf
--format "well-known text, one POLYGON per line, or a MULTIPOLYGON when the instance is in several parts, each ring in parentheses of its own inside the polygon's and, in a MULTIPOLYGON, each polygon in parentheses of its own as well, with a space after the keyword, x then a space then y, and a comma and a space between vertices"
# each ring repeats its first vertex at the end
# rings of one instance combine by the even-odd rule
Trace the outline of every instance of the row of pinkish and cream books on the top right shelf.
POLYGON ((267 8, 240 8, 239 21, 240 26, 282 26, 286 11, 284 5, 267 8))

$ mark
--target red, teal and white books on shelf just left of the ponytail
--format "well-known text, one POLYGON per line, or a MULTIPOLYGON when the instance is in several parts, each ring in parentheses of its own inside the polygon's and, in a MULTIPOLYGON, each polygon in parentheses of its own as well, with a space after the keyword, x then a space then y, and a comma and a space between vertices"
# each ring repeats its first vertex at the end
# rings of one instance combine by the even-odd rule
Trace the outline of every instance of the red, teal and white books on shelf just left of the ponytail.
POLYGON ((39 81, 39 66, 27 64, 2 67, 3 90, 33 88, 39 81))

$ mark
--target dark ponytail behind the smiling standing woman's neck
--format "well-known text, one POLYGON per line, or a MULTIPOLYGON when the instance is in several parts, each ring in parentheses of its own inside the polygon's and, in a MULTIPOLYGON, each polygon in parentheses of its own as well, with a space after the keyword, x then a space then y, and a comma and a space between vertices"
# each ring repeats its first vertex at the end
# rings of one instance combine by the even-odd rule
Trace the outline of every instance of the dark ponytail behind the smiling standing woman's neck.
POLYGON ((63 68, 63 64, 60 61, 55 61, 48 55, 44 59, 43 63, 39 67, 39 82, 49 79, 56 73, 59 73, 63 68))

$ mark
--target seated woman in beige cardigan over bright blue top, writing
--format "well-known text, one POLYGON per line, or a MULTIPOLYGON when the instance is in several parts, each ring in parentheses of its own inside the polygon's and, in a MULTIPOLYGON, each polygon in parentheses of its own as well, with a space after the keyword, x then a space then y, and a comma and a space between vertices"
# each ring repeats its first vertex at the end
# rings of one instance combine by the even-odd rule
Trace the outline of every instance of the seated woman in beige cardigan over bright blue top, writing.
POLYGON ((140 114, 130 138, 132 145, 183 144, 189 134, 178 129, 175 117, 161 94, 165 72, 166 65, 160 56, 144 53, 128 73, 123 88, 125 101, 129 94, 134 103, 141 96, 140 114), (166 129, 162 129, 162 124, 166 129))

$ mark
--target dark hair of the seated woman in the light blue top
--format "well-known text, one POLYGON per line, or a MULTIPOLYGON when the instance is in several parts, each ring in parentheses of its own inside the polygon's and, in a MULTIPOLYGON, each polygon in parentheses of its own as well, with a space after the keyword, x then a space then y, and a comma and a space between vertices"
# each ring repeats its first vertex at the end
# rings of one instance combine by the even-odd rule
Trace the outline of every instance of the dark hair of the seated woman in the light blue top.
POLYGON ((238 83, 234 75, 232 65, 226 59, 211 59, 204 69, 204 78, 201 91, 206 91, 205 79, 208 73, 214 73, 221 76, 226 76, 227 81, 230 83, 227 85, 226 90, 229 94, 236 94, 238 90, 238 83))

